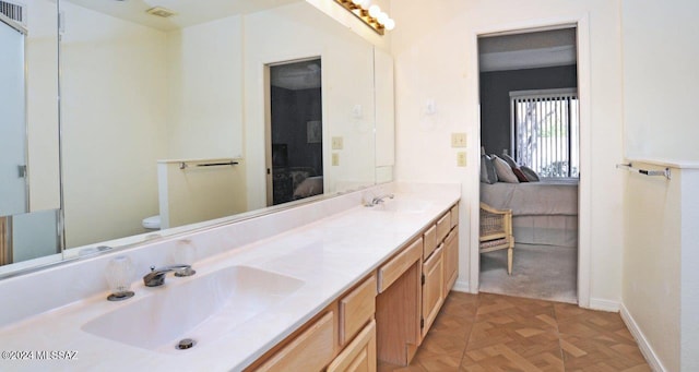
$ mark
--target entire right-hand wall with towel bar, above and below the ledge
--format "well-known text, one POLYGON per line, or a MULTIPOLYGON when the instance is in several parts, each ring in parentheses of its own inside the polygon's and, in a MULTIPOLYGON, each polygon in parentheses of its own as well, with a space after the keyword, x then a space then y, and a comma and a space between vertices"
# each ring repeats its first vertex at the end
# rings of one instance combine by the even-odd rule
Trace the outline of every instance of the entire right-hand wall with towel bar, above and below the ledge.
POLYGON ((680 166, 671 181, 629 175, 625 195, 623 302, 667 371, 699 369, 697 13, 691 0, 621 1, 626 156, 680 166))

